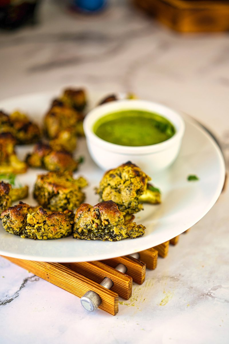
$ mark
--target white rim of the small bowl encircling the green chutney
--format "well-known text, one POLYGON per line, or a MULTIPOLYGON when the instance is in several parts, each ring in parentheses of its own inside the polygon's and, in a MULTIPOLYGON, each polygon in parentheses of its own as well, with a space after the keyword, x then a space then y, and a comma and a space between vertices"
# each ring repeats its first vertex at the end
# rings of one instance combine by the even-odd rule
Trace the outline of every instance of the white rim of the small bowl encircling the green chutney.
POLYGON ((109 103, 98 105, 90 110, 83 121, 83 128, 87 141, 91 141, 97 146, 102 147, 103 149, 106 149, 108 151, 123 154, 150 154, 170 148, 177 141, 181 140, 184 136, 185 122, 179 111, 167 107, 161 103, 142 99, 119 99, 110 101, 109 103), (160 111, 158 111, 158 109, 160 109, 160 111), (120 144, 105 141, 94 133, 93 127, 99 118, 109 115, 112 112, 122 110, 146 110, 149 112, 155 112, 156 114, 171 121, 176 129, 176 132, 171 138, 167 139, 166 141, 151 144, 149 146, 122 146, 120 144), (171 117, 173 118, 171 119, 171 117))

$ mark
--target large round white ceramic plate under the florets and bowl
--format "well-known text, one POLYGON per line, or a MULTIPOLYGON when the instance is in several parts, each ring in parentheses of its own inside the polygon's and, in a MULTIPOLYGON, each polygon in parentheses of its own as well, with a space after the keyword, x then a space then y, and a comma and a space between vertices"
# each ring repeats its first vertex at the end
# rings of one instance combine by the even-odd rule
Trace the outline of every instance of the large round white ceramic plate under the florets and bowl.
MULTIPOLYGON (((28 112, 34 121, 41 123, 51 99, 59 93, 60 91, 7 99, 0 102, 0 109, 5 111, 20 109, 28 112)), ((89 94, 89 106, 94 106, 103 95, 89 94)), ((143 237, 117 242, 77 240, 72 237, 31 240, 5 232, 0 224, 0 254, 50 262, 100 260, 153 247, 193 226, 219 197, 225 178, 225 164, 221 151, 211 136, 190 117, 184 115, 184 119, 186 130, 177 160, 168 170, 151 176, 153 184, 162 191, 162 203, 145 204, 144 210, 136 214, 135 221, 146 227, 143 237), (196 174, 199 181, 188 182, 189 174, 196 174)), ((31 150, 32 146, 25 146, 19 147, 17 151, 20 158, 23 158, 31 150)), ((94 188, 98 185, 103 171, 92 162, 85 139, 79 140, 75 155, 85 157, 85 162, 75 176, 83 175, 89 181, 85 202, 94 205, 99 202, 94 188)), ((33 184, 36 175, 42 171, 29 169, 27 173, 18 176, 22 184, 30 185, 30 196, 23 200, 24 202, 36 204, 32 198, 33 184)))

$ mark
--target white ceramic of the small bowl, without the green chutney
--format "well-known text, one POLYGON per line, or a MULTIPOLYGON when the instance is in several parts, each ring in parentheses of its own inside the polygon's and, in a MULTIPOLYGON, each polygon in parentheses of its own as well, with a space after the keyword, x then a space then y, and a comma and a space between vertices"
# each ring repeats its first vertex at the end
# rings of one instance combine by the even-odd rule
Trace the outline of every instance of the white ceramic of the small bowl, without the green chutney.
POLYGON ((103 170, 116 168, 122 163, 131 161, 145 173, 152 175, 170 166, 181 148, 185 124, 181 115, 164 105, 146 100, 111 101, 88 112, 84 119, 84 132, 91 158, 103 170), (167 118, 175 127, 175 134, 168 140, 150 146, 121 146, 100 139, 95 135, 95 122, 111 112, 121 110, 143 110, 155 112, 167 118))

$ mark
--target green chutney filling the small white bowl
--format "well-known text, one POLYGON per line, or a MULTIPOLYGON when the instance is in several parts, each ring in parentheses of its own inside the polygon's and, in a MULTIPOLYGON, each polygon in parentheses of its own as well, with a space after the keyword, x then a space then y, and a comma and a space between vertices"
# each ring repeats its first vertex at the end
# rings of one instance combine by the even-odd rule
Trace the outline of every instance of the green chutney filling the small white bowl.
POLYGON ((166 118, 142 110, 105 115, 97 120, 93 131, 102 140, 122 146, 150 146, 175 134, 174 126, 166 118))

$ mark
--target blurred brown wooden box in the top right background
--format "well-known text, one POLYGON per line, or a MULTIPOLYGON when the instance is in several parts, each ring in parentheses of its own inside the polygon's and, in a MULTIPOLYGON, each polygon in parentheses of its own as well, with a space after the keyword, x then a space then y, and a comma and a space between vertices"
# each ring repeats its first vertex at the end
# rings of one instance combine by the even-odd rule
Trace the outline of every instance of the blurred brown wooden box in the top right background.
POLYGON ((178 32, 229 30, 229 1, 132 0, 146 13, 178 32))

